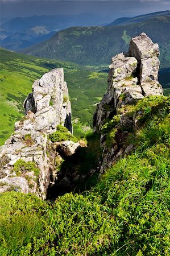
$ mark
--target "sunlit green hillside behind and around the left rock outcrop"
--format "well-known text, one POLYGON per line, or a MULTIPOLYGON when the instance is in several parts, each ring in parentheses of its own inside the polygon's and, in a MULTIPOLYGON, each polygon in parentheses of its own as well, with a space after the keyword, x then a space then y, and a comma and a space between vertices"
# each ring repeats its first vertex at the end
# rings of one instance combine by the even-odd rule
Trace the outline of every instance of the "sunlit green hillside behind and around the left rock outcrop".
POLYGON ((86 71, 80 65, 41 59, 0 49, 0 144, 11 135, 14 123, 23 115, 22 102, 31 92, 34 80, 39 79, 52 68, 64 68, 72 101, 74 128, 83 135, 80 123, 92 125, 96 103, 106 90, 106 73, 86 71))

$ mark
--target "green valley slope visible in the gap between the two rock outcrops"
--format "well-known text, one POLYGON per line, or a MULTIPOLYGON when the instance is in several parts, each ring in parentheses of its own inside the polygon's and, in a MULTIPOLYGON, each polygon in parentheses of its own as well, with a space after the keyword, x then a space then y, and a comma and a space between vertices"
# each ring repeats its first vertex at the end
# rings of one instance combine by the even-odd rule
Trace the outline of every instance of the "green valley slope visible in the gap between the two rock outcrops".
POLYGON ((78 118, 84 125, 92 127, 96 105, 106 92, 107 73, 92 71, 65 73, 65 81, 72 103, 73 119, 78 118))

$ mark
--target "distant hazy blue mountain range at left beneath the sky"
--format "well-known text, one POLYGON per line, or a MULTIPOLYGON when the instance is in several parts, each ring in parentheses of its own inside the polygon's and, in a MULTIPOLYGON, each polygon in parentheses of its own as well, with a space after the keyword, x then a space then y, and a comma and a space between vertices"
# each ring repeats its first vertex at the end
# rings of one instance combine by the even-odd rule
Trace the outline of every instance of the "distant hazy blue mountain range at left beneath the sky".
POLYGON ((18 17, 1 25, 1 46, 17 51, 46 40, 56 31, 73 26, 98 26, 108 20, 93 13, 18 17))

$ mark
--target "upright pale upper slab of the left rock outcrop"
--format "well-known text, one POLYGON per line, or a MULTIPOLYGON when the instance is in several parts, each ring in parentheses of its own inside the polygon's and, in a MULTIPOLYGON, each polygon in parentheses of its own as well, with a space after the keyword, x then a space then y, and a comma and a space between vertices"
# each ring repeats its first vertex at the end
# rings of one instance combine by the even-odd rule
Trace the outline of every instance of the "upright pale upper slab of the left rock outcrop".
POLYGON ((71 102, 69 101, 67 83, 64 82, 63 68, 52 69, 32 85, 32 93, 23 103, 26 114, 35 113, 35 119, 26 123, 27 130, 43 130, 48 133, 63 123, 72 133, 71 102), (51 105, 51 106, 50 106, 51 105))

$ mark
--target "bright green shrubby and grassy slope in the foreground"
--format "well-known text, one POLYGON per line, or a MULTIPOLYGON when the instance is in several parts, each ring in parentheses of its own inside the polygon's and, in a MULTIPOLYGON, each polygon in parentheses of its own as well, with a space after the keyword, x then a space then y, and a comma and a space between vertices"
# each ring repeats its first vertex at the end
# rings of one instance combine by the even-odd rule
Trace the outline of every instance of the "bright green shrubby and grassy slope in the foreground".
POLYGON ((2 256, 169 256, 170 98, 130 107, 128 114, 143 113, 143 127, 128 138, 135 150, 90 191, 54 202, 19 192, 0 196, 2 256))

